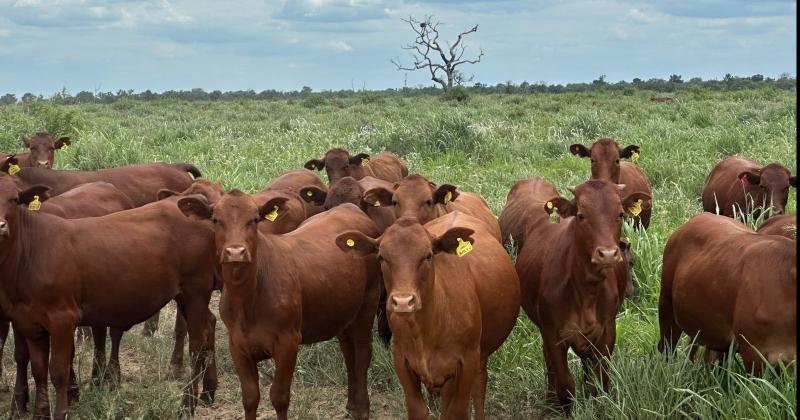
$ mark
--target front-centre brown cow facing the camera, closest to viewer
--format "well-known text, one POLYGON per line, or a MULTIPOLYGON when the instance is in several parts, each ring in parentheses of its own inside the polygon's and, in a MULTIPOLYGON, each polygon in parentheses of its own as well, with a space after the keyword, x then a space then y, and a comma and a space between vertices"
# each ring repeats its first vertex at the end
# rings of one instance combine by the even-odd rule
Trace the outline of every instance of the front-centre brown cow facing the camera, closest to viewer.
POLYGON ((392 353, 410 419, 427 419, 420 384, 442 395, 443 419, 484 418, 487 363, 519 314, 519 279, 484 223, 452 212, 424 226, 404 217, 379 239, 347 232, 339 247, 378 254, 389 293, 392 353))

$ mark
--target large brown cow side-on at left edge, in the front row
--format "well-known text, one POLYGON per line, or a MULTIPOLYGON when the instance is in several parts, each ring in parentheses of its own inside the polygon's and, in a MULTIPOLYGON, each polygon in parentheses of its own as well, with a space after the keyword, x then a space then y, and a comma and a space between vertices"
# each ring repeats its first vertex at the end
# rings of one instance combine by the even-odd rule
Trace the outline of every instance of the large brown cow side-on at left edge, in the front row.
POLYGON ((214 252, 213 235, 187 220, 175 199, 68 220, 28 210, 34 195, 41 196, 37 188, 20 190, 11 177, 0 177, 0 308, 28 344, 35 416, 50 415, 48 367, 56 388, 55 417, 67 415, 76 326, 126 330, 172 299, 186 316, 194 362, 184 404, 194 411, 201 377, 203 397, 212 400, 215 319, 208 303, 214 261, 208 256, 214 252), (47 238, 47 246, 33 246, 41 238, 47 238))

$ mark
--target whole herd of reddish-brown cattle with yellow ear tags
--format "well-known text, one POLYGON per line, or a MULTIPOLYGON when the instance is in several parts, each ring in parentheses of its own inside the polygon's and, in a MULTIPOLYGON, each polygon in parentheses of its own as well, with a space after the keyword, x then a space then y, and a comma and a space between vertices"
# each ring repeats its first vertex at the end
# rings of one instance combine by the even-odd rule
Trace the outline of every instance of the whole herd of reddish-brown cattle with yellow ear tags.
MULTIPOLYGON (((213 401, 214 290, 247 419, 260 399, 259 361, 275 362, 269 398, 285 419, 300 344, 333 337, 347 366, 347 410, 368 418, 376 317, 409 418, 428 416, 421 385, 441 395, 443 418, 467 418, 470 403, 484 418, 487 362, 520 306, 542 334, 549 401, 569 410, 575 395, 569 349, 609 386, 615 317, 634 293, 622 224, 646 228, 652 210, 638 146, 570 146, 591 159, 591 177, 570 188, 572 199, 544 179, 521 180, 497 218, 479 195, 409 175, 390 153, 332 149, 250 195, 224 192, 191 164, 53 170, 68 138, 38 133, 24 144, 29 153, 0 154, 0 345, 10 321, 17 414, 27 411, 30 363, 34 415, 51 415, 49 371, 53 415, 66 417, 79 396, 76 327, 91 327, 93 380, 109 371, 118 381, 123 332, 171 300, 176 375, 189 337, 186 413, 197 399, 213 401), (328 185, 314 172, 323 169, 328 185)), ((779 164, 740 157, 712 170, 702 197, 709 213, 680 227, 664 251, 660 351, 685 333, 692 357, 699 346, 710 359, 734 345, 755 374, 764 360, 794 359, 797 219, 782 213, 795 182, 779 164), (777 215, 757 232, 725 217, 748 199, 777 215)), ((592 393, 594 383, 586 384, 592 393)))

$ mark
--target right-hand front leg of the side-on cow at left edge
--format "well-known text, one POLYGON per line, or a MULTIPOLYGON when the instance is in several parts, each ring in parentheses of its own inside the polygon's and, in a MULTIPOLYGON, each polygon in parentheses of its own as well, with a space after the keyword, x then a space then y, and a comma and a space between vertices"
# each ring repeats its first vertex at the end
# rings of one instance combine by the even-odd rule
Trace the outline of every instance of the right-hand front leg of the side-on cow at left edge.
POLYGON ((69 410, 70 379, 72 372, 72 356, 75 353, 75 326, 68 323, 55 325, 50 331, 50 375, 56 390, 56 410, 53 418, 63 420, 69 410))

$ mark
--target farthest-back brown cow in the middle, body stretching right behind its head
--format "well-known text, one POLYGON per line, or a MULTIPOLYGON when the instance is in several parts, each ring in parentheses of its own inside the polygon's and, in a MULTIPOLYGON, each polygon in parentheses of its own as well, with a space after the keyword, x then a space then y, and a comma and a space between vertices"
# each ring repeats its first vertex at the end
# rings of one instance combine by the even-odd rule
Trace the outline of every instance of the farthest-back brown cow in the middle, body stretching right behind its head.
POLYGON ((306 169, 317 171, 324 168, 330 184, 346 176, 355 179, 371 176, 384 181, 398 182, 408 175, 406 164, 389 152, 371 156, 366 153, 350 156, 347 150, 336 148, 328 150, 322 159, 309 160, 304 166, 306 169))

